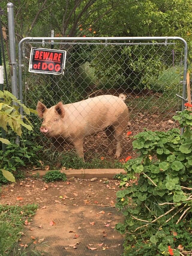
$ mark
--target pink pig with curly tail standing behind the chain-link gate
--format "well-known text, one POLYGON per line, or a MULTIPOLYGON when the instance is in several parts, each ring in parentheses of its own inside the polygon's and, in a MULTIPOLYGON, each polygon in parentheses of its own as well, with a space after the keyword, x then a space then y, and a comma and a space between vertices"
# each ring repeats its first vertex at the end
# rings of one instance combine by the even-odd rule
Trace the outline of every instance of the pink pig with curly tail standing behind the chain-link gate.
POLYGON ((83 159, 83 138, 105 131, 108 138, 108 154, 119 158, 122 152, 122 137, 129 121, 125 95, 101 95, 71 104, 59 102, 47 108, 38 101, 37 112, 43 122, 40 128, 55 148, 62 152, 64 144, 72 144, 77 155, 83 159))

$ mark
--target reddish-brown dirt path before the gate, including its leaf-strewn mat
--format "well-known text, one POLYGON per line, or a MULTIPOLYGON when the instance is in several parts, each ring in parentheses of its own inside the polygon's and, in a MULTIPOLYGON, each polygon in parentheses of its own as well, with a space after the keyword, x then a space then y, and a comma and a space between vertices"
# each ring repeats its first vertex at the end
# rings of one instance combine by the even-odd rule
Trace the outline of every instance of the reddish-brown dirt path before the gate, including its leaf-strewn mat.
POLYGON ((114 230, 123 218, 115 208, 118 185, 107 179, 44 183, 26 178, 4 186, 0 203, 39 205, 32 221, 25 222, 22 248, 34 243, 43 255, 121 255, 124 239, 114 230))

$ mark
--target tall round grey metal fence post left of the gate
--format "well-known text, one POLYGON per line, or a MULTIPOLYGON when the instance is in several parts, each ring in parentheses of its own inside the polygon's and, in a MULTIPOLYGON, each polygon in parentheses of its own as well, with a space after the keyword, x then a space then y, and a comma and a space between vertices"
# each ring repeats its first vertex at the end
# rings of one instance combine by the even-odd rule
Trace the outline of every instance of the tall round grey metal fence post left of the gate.
MULTIPOLYGON (((12 67, 11 76, 11 92, 18 99, 17 90, 17 62, 16 62, 16 47, 15 47, 15 27, 14 27, 14 12, 13 4, 7 4, 7 18, 8 18, 8 32, 9 32, 9 47, 10 47, 10 61, 12 67)), ((17 105, 13 102, 13 105, 17 105)), ((16 144, 19 144, 19 136, 16 137, 16 144)))

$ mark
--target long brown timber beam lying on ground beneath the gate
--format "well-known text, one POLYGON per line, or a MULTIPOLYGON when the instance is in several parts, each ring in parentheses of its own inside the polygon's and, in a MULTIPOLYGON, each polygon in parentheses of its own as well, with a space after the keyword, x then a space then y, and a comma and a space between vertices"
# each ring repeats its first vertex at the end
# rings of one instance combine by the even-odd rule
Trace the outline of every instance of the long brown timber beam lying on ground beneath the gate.
MULTIPOLYGON (((116 174, 126 174, 124 169, 71 169, 71 170, 60 170, 65 173, 67 178, 75 177, 79 179, 91 179, 91 178, 108 178, 112 179, 116 174)), ((43 177, 48 171, 46 170, 35 170, 26 173, 27 177, 33 176, 39 173, 39 177, 43 177)))

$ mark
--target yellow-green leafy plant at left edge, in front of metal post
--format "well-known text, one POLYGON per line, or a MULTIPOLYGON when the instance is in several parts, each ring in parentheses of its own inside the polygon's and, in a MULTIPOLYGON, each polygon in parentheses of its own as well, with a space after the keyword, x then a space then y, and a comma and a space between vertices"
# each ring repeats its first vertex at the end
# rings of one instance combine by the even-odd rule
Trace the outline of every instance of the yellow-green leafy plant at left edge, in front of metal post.
MULTIPOLYGON (((0 91, 0 127, 2 127, 5 131, 7 130, 7 125, 10 126, 10 128, 19 136, 22 134, 21 126, 25 127, 28 130, 32 130, 31 123, 29 122, 29 119, 27 117, 24 117, 26 119, 26 123, 23 122, 22 116, 19 113, 19 107, 22 107, 24 112, 29 115, 30 113, 36 113, 36 110, 27 108, 24 104, 21 104, 20 101, 16 99, 15 96, 13 96, 8 91, 0 91), (15 103, 12 105, 12 101, 15 103), (27 124, 28 123, 28 124, 27 124)), ((11 142, 7 139, 0 138, 0 141, 4 144, 11 145, 11 142)), ((13 142, 12 142, 13 143, 13 142)), ((8 148, 9 146, 7 146, 8 148)), ((10 167, 11 170, 15 171, 16 167, 13 166, 11 163, 11 159, 14 158, 15 162, 20 162, 22 165, 25 165, 23 160, 21 160, 18 156, 11 156, 11 159, 6 158, 6 154, 8 154, 10 151, 7 151, 5 155, 3 155, 3 158, 1 160, 7 161, 7 164, 4 165, 3 169, 1 169, 1 172, 3 176, 6 178, 6 180, 9 180, 11 182, 15 182, 15 178, 12 173, 10 173, 7 170, 7 165, 10 167), (4 158, 5 157, 5 158, 4 158)), ((13 154, 13 152, 11 152, 13 154)), ((18 149, 16 150, 16 154, 19 156, 23 156, 21 151, 18 152, 18 149)), ((9 169, 9 168, 8 168, 9 169)), ((0 180, 1 181, 1 180, 0 180)))

